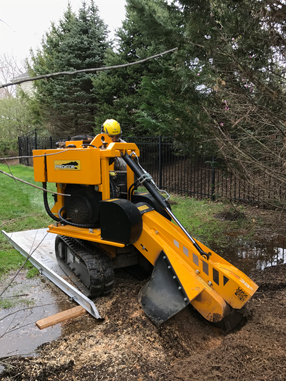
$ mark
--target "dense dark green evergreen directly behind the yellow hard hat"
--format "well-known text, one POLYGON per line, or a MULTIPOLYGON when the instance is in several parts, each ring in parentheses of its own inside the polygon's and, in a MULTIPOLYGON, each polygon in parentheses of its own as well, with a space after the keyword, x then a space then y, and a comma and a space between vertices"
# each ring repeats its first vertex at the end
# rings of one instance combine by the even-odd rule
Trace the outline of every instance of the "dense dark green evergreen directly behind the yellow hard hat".
MULTIPOLYGON (((205 94, 196 91, 196 81, 186 85, 182 76, 180 65, 188 65, 184 30, 182 12, 175 5, 164 0, 127 0, 126 19, 117 32, 119 45, 106 55, 106 66, 134 62, 176 46, 180 49, 143 65, 100 73, 93 81, 99 97, 98 131, 103 120, 112 117, 126 135, 175 134, 185 140, 201 134, 205 94)), ((195 78, 197 71, 192 74, 195 78)))

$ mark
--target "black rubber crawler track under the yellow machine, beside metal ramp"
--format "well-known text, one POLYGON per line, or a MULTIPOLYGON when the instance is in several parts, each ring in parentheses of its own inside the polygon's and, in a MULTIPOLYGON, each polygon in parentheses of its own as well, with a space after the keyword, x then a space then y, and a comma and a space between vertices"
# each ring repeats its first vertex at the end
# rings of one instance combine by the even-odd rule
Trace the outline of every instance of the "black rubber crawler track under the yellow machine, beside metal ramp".
MULTIPOLYGON (((114 284, 114 271, 106 254, 87 241, 65 236, 58 237, 81 259, 81 263, 83 262, 87 268, 90 277, 90 285, 88 286, 90 296, 96 297, 110 294, 114 284)), ((61 263, 63 264, 62 261, 61 263)), ((67 264, 65 266, 69 268, 67 264)), ((83 283, 85 284, 84 281, 83 283)))

